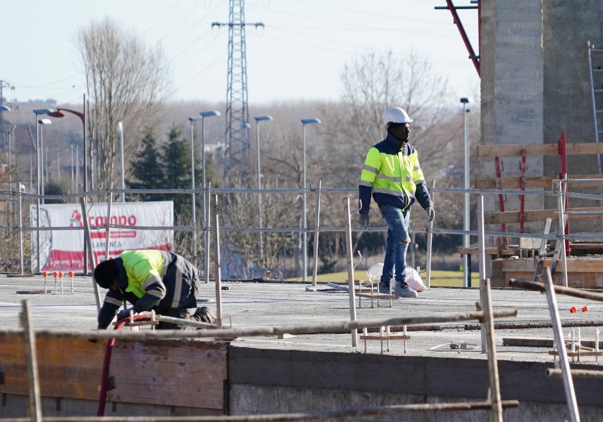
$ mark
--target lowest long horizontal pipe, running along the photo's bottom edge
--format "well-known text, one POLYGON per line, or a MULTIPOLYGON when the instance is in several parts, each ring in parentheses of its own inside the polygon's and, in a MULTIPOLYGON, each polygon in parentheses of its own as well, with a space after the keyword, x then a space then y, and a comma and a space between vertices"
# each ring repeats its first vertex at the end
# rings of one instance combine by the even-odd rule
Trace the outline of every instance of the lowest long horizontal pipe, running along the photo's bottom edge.
MULTIPOLYGON (((503 408, 516 408, 517 400, 504 400, 503 408)), ((462 412, 490 409, 490 402, 465 403, 420 403, 416 405, 378 406, 374 408, 356 408, 336 411, 320 411, 307 413, 285 413, 265 415, 232 415, 232 416, 111 416, 111 417, 47 417, 44 422, 261 422, 261 421, 301 421, 327 418, 354 418, 372 415, 395 415, 415 412, 462 412)), ((0 419, 0 422, 30 422, 30 418, 0 419)))

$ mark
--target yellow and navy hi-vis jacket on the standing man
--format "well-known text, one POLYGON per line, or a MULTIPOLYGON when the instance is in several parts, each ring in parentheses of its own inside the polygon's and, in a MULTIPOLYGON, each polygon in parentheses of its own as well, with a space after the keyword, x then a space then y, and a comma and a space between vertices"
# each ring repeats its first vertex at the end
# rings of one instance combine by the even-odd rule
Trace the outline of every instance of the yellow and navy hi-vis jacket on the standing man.
POLYGON ((402 143, 388 133, 384 140, 368 150, 358 186, 361 214, 368 213, 371 193, 377 204, 402 210, 408 209, 415 197, 424 209, 432 206, 414 146, 402 143))

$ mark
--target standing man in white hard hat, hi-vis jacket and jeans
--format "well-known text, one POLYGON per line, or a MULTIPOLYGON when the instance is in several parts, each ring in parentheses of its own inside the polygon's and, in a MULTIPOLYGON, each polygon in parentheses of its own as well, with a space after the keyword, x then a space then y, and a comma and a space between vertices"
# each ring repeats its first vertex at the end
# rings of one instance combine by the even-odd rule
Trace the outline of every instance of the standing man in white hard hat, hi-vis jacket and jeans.
POLYGON ((434 206, 418 163, 417 150, 408 143, 410 122, 412 119, 400 107, 391 107, 385 112, 387 137, 368 150, 358 186, 362 201, 359 224, 368 226, 372 193, 388 227, 379 292, 390 292, 395 264, 394 294, 398 297, 417 297, 417 292, 406 284, 406 250, 411 241, 410 207, 415 198, 426 210, 429 221, 435 218, 434 206))

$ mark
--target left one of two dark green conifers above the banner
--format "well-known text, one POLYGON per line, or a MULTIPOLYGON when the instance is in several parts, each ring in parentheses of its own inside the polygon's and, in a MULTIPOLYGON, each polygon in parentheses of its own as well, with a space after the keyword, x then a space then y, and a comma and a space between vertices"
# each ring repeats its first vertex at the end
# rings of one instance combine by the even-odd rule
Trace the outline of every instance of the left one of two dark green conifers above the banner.
MULTIPOLYGON (((142 138, 142 148, 131 162, 132 175, 135 181, 128 180, 131 189, 159 189, 163 187, 163 166, 159 160, 159 152, 155 146, 156 139, 153 129, 145 128, 142 138)), ((142 201, 159 201, 163 195, 140 194, 142 201)))

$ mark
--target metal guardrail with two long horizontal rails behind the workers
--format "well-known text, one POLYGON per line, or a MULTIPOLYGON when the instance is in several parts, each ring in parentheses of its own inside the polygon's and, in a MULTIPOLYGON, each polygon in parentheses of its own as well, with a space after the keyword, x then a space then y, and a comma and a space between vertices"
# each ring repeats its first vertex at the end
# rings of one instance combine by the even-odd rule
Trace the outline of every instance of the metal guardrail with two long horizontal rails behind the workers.
MULTIPOLYGON (((567 227, 567 216, 571 215, 603 215, 603 212, 579 212, 567 210, 566 203, 568 198, 581 198, 587 200, 595 200, 601 201, 603 200, 603 195, 595 195, 595 194, 582 194, 579 192, 568 192, 567 189, 563 189, 563 186, 567 184, 589 184, 593 183, 601 183, 603 184, 603 178, 584 178, 584 179, 559 179, 553 180, 553 187, 551 191, 541 191, 537 189, 464 189, 457 187, 435 187, 435 181, 432 181, 430 191, 433 194, 436 192, 441 194, 464 194, 465 192, 473 195, 535 195, 540 197, 555 197, 559 204, 557 212, 560 215, 560 220, 564 222, 564 227, 567 227)), ((319 181, 319 186, 321 186, 321 181, 319 181)), ((23 240, 22 233, 24 231, 30 231, 32 233, 37 233, 39 231, 48 231, 48 230, 83 230, 84 235, 88 230, 98 230, 104 228, 107 231, 107 240, 110 239, 110 229, 112 228, 130 228, 130 226, 120 225, 120 224, 111 224, 110 219, 106 219, 106 224, 102 226, 90 226, 86 227, 37 227, 26 226, 23 224, 21 216, 22 216, 22 200, 24 198, 29 198, 30 200, 38 200, 40 198, 45 199, 77 199, 77 198, 87 198, 87 197, 103 197, 107 195, 107 212, 108 215, 110 213, 110 207, 112 204, 111 198, 114 194, 186 194, 191 195, 192 193, 206 195, 219 195, 219 194, 302 194, 305 192, 303 188, 294 188, 294 189, 235 189, 235 188, 213 188, 208 186, 206 189, 103 189, 98 191, 89 191, 82 192, 78 194, 67 194, 67 195, 37 195, 37 194, 28 194, 26 192, 16 192, 16 191, 0 191, 0 197, 8 197, 14 198, 14 201, 17 204, 16 212, 19 213, 20 218, 13 219, 13 221, 17 221, 18 225, 0 225, 0 230, 13 230, 19 234, 19 269, 21 274, 24 274, 24 250, 23 250, 23 240)), ((315 236, 318 236, 320 233, 329 233, 329 232, 343 232, 345 231, 345 227, 343 226, 335 226, 335 227, 327 227, 320 226, 320 201, 318 201, 318 197, 321 194, 350 194, 356 193, 357 189, 355 188, 313 188, 310 187, 306 190, 309 194, 317 194, 317 207, 316 207, 316 224, 315 227, 220 227, 220 231, 256 231, 262 233, 314 233, 315 236)), ((210 215, 210 206, 211 201, 207 201, 206 204, 206 213, 208 215, 207 221, 208 224, 206 226, 198 226, 198 225, 166 225, 166 226, 136 226, 137 230, 185 230, 185 231, 202 231, 206 233, 204 236, 203 248, 204 250, 209 250, 209 232, 211 230, 209 224, 209 215, 210 215)), ((85 211, 85 207, 83 206, 83 211, 85 211)), ((303 210, 302 210, 303 212, 303 210)), ((351 226, 351 224, 350 224, 351 226)), ((387 227, 350 227, 352 231, 387 231, 387 227)), ((429 288, 431 283, 431 257, 432 257, 432 238, 434 235, 470 235, 470 236, 478 236, 478 231, 476 230, 459 230, 459 229, 450 229, 450 228, 434 228, 432 224, 429 224, 428 227, 412 227, 412 231, 415 233, 426 233, 427 235, 427 244, 428 248, 426 251, 426 259, 428 262, 427 268, 427 279, 426 286, 429 288)), ((603 241, 603 233, 599 235, 567 235, 565 230, 558 230, 557 233, 549 233, 543 235, 541 233, 513 233, 508 231, 486 231, 485 235, 494 236, 494 237, 513 237, 513 238, 546 238, 546 239, 563 239, 564 243, 567 244, 570 240, 589 240, 589 241, 603 241)), ((84 237, 84 239, 86 239, 84 237)), ((567 248, 567 245, 566 245, 567 248)), ((314 268, 317 267, 318 263, 318 247, 315 245, 314 247, 314 268)), ((565 254, 564 254, 565 255, 565 254)), ((93 262, 92 254, 89 251, 89 256, 91 262, 93 262)), ((563 259, 563 258, 562 258, 563 259)), ((39 268, 39 267, 38 267, 39 268)), ((563 280, 564 286, 567 286, 567 270, 566 266, 563 265, 563 280)), ((204 274, 205 274, 205 282, 209 282, 209 254, 206 254, 206 259, 204 262, 204 274)), ((316 272, 313 272, 312 277, 312 285, 317 285, 316 280, 316 272)))

